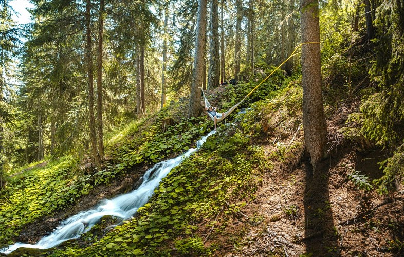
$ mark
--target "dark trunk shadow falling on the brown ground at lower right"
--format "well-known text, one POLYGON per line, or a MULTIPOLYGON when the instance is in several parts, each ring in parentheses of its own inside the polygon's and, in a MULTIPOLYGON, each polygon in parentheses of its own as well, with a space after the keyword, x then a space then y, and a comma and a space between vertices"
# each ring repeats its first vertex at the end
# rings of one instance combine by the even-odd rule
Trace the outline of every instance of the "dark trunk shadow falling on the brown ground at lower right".
POLYGON ((313 178, 311 165, 304 163, 306 190, 304 195, 305 235, 301 241, 306 253, 313 256, 339 256, 337 229, 329 200, 329 159, 318 164, 318 178, 313 178))

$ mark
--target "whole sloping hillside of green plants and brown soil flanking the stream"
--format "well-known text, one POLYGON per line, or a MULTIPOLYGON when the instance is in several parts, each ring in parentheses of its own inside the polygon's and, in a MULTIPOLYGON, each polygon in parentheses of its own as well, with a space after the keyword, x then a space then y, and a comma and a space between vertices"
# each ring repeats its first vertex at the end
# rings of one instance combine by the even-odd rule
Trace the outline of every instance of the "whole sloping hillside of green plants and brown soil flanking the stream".
MULTIPOLYGON (((226 108, 252 86, 219 88, 208 96, 226 108)), ((300 78, 278 74, 249 99, 245 112, 232 115, 173 169, 133 218, 115 227, 116 219, 105 217, 79 240, 41 251, 20 248, 10 256, 402 254, 402 194, 375 191, 370 181, 382 176, 378 162, 385 153, 360 138, 348 140, 355 135, 344 134, 346 121, 359 103, 343 100, 343 91, 334 87, 324 95, 329 151, 318 185, 311 184, 305 153, 300 78)), ((188 149, 212 122, 183 119, 184 106, 186 100, 128 128, 108 147, 111 159, 101 172, 86 175, 74 159, 20 171, 2 192, 1 243, 35 243, 67 216, 132 190, 151 164, 188 149), (32 209, 40 196, 43 202, 32 209), (53 205, 54 199, 62 201, 53 205)))

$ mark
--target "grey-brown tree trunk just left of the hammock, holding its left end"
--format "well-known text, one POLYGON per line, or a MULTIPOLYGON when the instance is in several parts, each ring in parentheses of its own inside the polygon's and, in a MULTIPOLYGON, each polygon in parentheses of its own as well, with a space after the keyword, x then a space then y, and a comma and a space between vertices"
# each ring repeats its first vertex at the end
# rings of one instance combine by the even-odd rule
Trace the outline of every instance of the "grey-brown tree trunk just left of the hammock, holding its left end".
POLYGON ((206 0, 198 2, 198 22, 196 26, 196 48, 194 70, 192 74, 191 96, 189 100, 188 118, 197 117, 201 113, 201 89, 203 83, 204 53, 206 44, 206 0))

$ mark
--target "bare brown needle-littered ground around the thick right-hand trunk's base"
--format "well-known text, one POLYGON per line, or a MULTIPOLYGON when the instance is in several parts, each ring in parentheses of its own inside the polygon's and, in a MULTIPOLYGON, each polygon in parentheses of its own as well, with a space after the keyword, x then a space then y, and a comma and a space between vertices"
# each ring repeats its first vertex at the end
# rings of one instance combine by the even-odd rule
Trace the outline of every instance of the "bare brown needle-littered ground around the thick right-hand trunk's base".
MULTIPOLYGON (((328 121, 330 134, 344 124, 340 121, 348 112, 342 113, 328 121)), ((303 131, 289 133, 283 141, 291 142, 293 137, 303 142, 303 131)), ((266 141, 263 146, 270 153, 276 138, 266 141)), ((210 236, 206 244, 222 246, 215 255, 402 256, 404 190, 380 196, 375 190, 358 189, 348 179, 353 171, 361 171, 370 181, 380 178, 378 162, 385 153, 358 151, 349 142, 339 144, 320 163, 320 182, 313 185, 311 164, 300 152, 297 149, 286 162, 272 163, 256 198, 222 233, 210 236)))

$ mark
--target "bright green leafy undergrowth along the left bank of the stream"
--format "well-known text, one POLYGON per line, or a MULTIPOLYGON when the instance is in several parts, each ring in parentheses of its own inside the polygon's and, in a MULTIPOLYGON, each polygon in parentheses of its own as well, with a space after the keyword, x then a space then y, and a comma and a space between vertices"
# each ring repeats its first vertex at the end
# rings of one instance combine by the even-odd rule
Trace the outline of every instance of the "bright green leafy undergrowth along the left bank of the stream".
MULTIPOLYGON (((120 145, 118 151, 124 152, 122 147, 126 148, 126 154, 109 160, 95 174, 85 175, 79 169, 78 158, 69 156, 44 168, 22 170, 9 178, 6 187, 0 191, 0 247, 12 244, 11 238, 19 235, 26 224, 75 203, 98 185, 131 172, 135 165, 157 162, 168 154, 187 150, 207 128, 201 118, 192 118, 178 122, 161 133, 162 116, 157 114, 152 124, 146 124, 148 128, 144 123, 133 126, 134 131, 127 133, 140 140, 132 148, 127 147, 127 143, 120 145), (141 136, 136 131, 141 131, 141 136)), ((108 151, 114 156, 114 149, 109 148, 108 151)))

